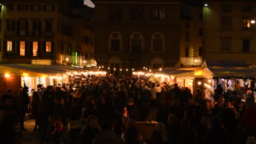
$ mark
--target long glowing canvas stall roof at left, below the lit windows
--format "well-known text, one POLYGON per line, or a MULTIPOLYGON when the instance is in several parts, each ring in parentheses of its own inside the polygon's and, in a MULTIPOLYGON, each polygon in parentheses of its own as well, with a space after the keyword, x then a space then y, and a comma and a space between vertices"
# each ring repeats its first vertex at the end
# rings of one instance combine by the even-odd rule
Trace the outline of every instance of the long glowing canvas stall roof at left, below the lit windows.
POLYGON ((16 75, 24 77, 50 77, 57 73, 65 73, 66 70, 48 65, 37 64, 0 64, 0 75, 16 75))

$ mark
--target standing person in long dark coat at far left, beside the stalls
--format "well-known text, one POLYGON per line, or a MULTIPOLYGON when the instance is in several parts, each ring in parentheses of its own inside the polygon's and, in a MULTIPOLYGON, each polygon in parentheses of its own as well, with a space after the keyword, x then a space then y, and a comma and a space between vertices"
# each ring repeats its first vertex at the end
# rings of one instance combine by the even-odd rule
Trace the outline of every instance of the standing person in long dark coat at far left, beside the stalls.
POLYGON ((24 128, 24 119, 26 113, 28 113, 28 104, 29 104, 29 88, 27 86, 24 86, 18 101, 18 107, 19 107, 19 119, 20 119, 20 125, 22 131, 27 131, 27 129, 24 128))

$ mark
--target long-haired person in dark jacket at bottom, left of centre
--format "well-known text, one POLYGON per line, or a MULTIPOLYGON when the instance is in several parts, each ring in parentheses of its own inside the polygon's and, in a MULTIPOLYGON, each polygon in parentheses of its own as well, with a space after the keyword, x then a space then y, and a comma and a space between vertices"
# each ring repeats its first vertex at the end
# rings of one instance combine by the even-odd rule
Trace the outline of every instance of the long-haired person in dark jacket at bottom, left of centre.
POLYGON ((85 129, 83 130, 81 144, 92 144, 94 136, 100 132, 97 117, 91 115, 87 119, 85 129))

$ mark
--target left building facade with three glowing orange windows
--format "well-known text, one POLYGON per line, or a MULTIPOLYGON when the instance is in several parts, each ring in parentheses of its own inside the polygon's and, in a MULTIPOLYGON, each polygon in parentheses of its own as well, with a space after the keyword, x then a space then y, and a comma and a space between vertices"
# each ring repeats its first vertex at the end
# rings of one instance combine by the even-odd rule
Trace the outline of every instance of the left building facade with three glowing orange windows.
POLYGON ((63 64, 81 49, 71 1, 1 0, 0 6, 1 63, 63 64))

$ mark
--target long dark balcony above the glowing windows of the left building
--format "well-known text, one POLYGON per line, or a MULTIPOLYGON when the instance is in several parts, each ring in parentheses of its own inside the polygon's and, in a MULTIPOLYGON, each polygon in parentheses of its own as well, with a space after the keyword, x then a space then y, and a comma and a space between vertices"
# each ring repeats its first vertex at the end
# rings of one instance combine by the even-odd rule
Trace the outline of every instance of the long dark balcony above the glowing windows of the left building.
POLYGON ((17 32, 5 31, 4 37, 53 37, 53 32, 17 32))

